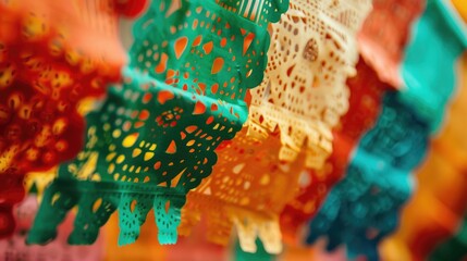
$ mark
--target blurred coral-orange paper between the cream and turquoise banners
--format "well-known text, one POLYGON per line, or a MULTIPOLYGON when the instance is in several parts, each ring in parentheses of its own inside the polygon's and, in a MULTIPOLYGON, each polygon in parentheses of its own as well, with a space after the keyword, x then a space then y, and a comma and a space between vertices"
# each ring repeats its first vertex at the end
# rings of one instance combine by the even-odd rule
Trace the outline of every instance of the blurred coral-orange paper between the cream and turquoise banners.
POLYGON ((378 0, 358 34, 358 45, 365 61, 381 80, 402 86, 400 63, 410 28, 425 8, 423 0, 378 0))

